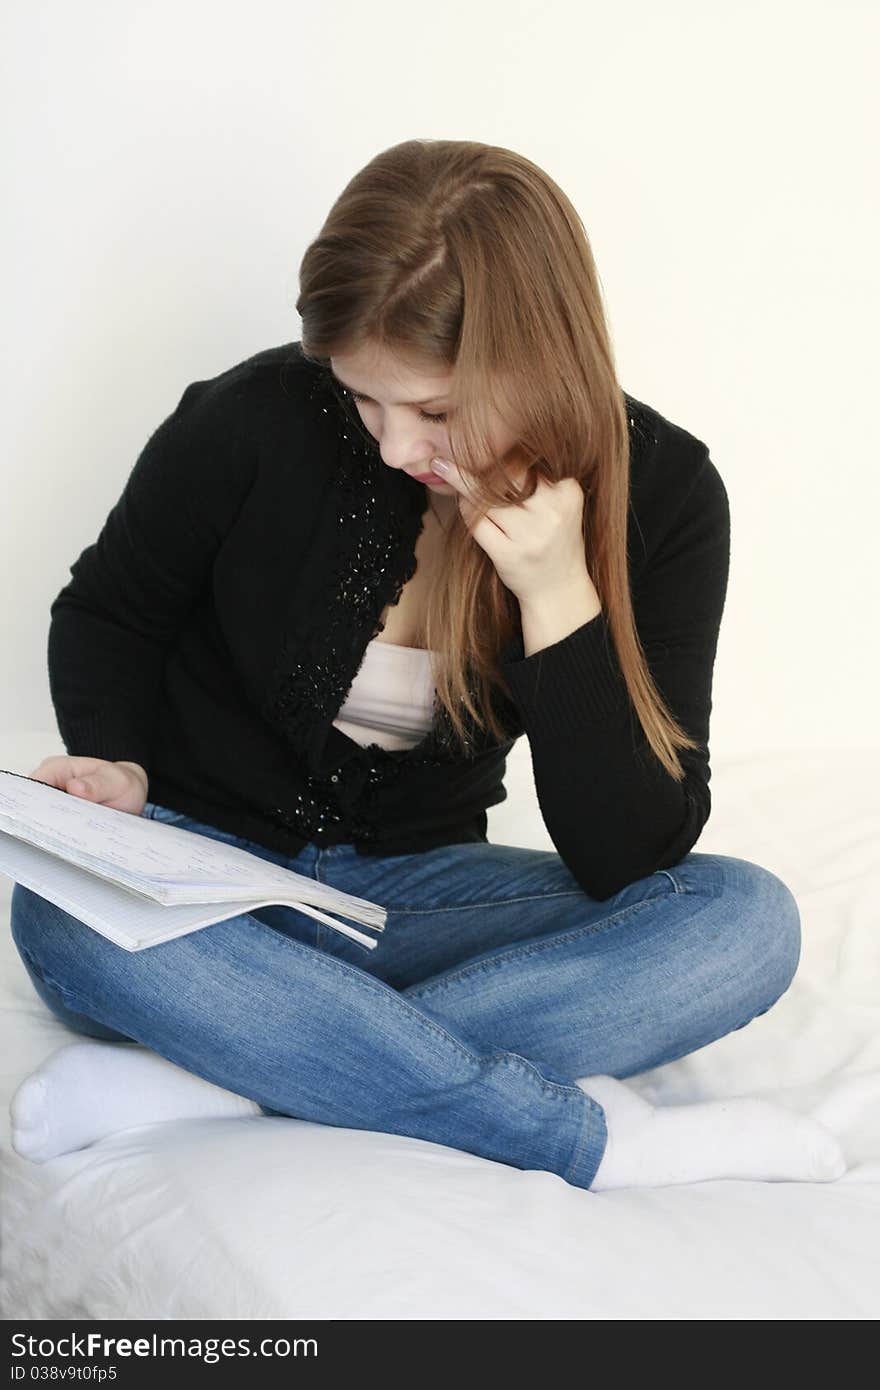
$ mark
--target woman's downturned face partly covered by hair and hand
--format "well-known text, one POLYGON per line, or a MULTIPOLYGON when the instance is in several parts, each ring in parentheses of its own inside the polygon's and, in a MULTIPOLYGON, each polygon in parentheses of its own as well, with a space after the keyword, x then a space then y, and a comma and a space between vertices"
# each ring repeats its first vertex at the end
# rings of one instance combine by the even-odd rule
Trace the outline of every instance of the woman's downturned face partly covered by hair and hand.
MULTIPOLYGON (((455 463, 446 432, 452 371, 414 371, 399 357, 373 346, 331 357, 329 366, 336 381, 349 391, 389 468, 402 468, 423 481, 431 473, 431 459, 455 463)), ((514 438, 492 413, 496 457, 510 448, 514 438)), ((431 475, 425 486, 438 496, 456 499, 456 489, 442 478, 431 475)))

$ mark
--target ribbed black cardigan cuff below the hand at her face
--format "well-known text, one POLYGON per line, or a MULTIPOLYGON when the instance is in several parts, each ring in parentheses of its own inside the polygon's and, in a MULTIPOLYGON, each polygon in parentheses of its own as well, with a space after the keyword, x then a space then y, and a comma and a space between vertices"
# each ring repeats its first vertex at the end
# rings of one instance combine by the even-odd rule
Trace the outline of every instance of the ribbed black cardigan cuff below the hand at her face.
POLYGON ((605 612, 531 656, 517 632, 502 649, 500 669, 530 737, 559 738, 630 710, 605 612))

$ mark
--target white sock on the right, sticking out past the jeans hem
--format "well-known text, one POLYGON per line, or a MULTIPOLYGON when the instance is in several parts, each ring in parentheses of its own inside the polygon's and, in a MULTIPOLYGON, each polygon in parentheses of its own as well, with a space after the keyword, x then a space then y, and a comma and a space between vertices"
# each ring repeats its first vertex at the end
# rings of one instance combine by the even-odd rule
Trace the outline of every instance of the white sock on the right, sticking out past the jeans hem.
POLYGON ((770 1101, 651 1105, 616 1076, 577 1081, 605 1111, 608 1145, 591 1190, 737 1177, 827 1183, 847 1172, 831 1130, 770 1101))

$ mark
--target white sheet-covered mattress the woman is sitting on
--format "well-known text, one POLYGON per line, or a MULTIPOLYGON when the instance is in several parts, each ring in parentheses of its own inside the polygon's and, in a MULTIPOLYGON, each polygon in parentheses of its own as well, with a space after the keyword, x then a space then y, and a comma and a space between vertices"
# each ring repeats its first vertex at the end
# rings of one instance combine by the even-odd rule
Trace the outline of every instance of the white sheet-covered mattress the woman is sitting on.
MULTIPOLYGON (((31 771, 57 735, 3 766, 31 771)), ((60 749, 57 749, 60 751, 60 749)), ((713 760, 698 849, 792 888, 798 974, 745 1029, 630 1079, 683 1104, 823 1104, 836 1183, 587 1193, 424 1140, 286 1118, 142 1125, 44 1165, 8 1099, 71 1041, 33 994, 0 878, 0 1176, 7 1319, 873 1319, 880 1314, 880 749, 713 760), (826 1118, 826 1122, 827 1122, 826 1118)), ((528 745, 496 842, 552 848, 528 745)))

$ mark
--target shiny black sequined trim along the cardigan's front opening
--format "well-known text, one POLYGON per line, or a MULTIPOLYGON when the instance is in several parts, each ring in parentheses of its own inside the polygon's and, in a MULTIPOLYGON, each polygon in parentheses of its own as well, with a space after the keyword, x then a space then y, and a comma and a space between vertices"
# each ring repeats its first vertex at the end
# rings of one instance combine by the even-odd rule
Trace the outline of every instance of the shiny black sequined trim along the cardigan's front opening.
MULTIPOLYGON (((339 543, 323 602, 303 616, 304 626, 298 627, 296 634, 288 630, 284 635, 261 710, 300 753, 304 790, 295 795, 291 806, 264 808, 263 813, 306 841, 377 841, 382 838, 382 791, 405 766, 448 764, 462 756, 475 758, 488 749, 498 749, 499 745, 488 730, 474 726, 463 708, 467 749, 463 755, 438 698, 434 701, 432 724, 413 748, 360 745, 332 724, 367 644, 385 626, 381 613, 386 605, 398 602, 405 584, 416 573, 416 542, 428 496, 405 474, 385 467, 375 439, 366 431, 348 392, 338 386, 328 367, 304 359, 302 349, 295 366, 311 375, 306 399, 325 417, 329 438, 334 438, 332 432, 339 432, 334 475, 339 543), (338 759, 331 758, 332 766, 321 767, 321 753, 331 748, 338 759)), ((626 399, 631 449, 645 448, 653 435, 639 403, 628 396, 626 399)), ((512 656, 523 657, 521 638, 505 649, 505 657, 512 656)), ((471 685, 471 695, 477 702, 475 685, 471 685)), ((500 745, 507 752, 523 733, 523 726, 503 692, 498 691, 496 699, 499 717, 510 731, 509 739, 500 745)))

